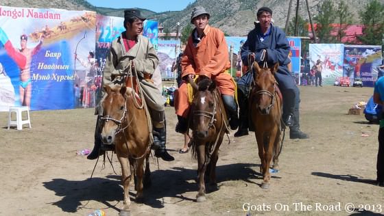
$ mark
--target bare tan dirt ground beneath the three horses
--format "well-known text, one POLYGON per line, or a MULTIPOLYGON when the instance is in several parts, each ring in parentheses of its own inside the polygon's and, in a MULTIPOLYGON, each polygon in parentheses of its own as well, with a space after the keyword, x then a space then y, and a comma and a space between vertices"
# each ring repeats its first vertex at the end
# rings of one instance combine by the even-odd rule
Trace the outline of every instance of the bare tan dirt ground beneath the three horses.
MULTIPOLYGON (((167 107, 167 148, 173 162, 151 159, 152 187, 132 215, 355 215, 384 213, 384 188, 375 185, 379 126, 348 109, 372 95, 370 87, 300 87, 301 128, 287 135, 280 172, 263 190, 254 135, 224 139, 217 163, 219 190, 195 202, 197 161, 179 154, 182 135, 167 107), (355 206, 355 211, 353 211, 355 206), (352 208, 348 213, 345 209, 352 208), (249 211, 248 211, 249 210, 249 211), (333 211, 332 211, 333 210, 333 211)), ((103 167, 76 152, 93 147, 93 109, 32 111, 32 129, 7 130, 0 113, 0 215, 117 215, 123 199, 120 165, 103 167)), ((25 125, 26 126, 26 125, 25 125)), ((289 132, 289 130, 287 130, 289 132)), ((131 198, 136 191, 131 191, 131 198)))

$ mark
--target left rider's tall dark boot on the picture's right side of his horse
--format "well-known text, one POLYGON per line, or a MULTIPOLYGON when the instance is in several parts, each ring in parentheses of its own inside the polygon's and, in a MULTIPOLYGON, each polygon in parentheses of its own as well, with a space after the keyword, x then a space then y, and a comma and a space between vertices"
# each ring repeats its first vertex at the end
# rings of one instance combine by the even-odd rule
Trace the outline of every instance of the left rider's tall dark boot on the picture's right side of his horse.
POLYGON ((152 144, 152 148, 155 150, 155 157, 160 157, 164 161, 175 160, 168 154, 167 148, 165 148, 165 143, 167 142, 167 129, 165 126, 164 111, 152 111, 151 116, 154 125, 154 144, 152 144))

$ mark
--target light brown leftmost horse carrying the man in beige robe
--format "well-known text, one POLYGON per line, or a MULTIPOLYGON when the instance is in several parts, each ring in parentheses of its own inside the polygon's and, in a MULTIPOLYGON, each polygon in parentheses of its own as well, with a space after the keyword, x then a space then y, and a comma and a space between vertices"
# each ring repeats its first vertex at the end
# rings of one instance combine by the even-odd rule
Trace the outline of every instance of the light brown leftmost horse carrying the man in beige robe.
POLYGON ((136 176, 136 202, 143 199, 143 163, 145 183, 149 184, 149 128, 145 109, 137 106, 131 87, 104 86, 107 93, 101 117, 101 139, 104 145, 115 144, 115 152, 121 165, 121 181, 124 189, 123 208, 119 215, 130 214, 129 186, 136 176))

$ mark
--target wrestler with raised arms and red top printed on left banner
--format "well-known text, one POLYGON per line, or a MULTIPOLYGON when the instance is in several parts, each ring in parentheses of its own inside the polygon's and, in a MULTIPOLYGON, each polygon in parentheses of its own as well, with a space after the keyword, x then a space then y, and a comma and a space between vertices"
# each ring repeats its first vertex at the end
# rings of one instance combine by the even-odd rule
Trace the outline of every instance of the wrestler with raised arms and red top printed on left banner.
POLYGON ((30 49, 27 48, 27 35, 23 34, 20 36, 21 49, 15 49, 12 42, 8 40, 8 36, 5 34, 3 29, 0 27, 0 42, 3 44, 8 55, 16 62, 20 68, 20 102, 22 106, 31 106, 32 96, 32 79, 31 79, 31 64, 32 58, 38 51, 40 51, 43 44, 43 35, 40 36, 38 44, 30 49))

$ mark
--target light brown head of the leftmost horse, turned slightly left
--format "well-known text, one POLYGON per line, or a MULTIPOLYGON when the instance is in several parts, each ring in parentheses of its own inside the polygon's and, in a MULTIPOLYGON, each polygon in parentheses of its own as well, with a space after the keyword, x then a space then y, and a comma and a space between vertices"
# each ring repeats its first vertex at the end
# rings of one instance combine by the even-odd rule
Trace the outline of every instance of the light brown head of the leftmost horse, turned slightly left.
POLYGON ((107 94, 103 103, 103 116, 101 117, 101 140, 104 144, 113 144, 115 135, 120 133, 123 122, 127 118, 127 98, 132 94, 130 87, 110 87, 104 85, 104 90, 107 94))

